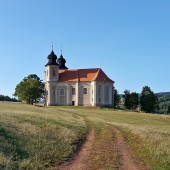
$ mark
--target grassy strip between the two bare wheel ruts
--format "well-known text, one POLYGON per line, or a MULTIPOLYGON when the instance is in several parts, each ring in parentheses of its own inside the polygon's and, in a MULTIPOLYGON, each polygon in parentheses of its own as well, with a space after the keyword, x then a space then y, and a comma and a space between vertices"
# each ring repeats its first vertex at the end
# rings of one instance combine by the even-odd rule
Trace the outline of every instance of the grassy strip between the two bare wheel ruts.
POLYGON ((117 153, 114 152, 115 136, 112 126, 94 123, 95 143, 89 157, 88 170, 117 169, 117 153))

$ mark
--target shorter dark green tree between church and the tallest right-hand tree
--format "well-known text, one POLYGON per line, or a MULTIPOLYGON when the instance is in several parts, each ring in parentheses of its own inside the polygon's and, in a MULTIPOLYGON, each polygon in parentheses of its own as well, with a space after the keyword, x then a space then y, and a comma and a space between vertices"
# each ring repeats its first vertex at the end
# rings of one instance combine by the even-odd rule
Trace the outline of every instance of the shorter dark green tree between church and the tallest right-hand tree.
POLYGON ((139 105, 139 96, 136 92, 124 91, 124 105, 127 109, 135 110, 139 105))

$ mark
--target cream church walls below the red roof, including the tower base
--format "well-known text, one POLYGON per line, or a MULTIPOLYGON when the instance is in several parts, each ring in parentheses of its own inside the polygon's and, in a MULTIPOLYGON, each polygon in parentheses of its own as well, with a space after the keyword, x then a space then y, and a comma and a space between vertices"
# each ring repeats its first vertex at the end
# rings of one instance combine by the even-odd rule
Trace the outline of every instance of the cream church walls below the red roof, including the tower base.
POLYGON ((113 83, 110 82, 46 82, 45 89, 47 93, 46 101, 49 106, 113 105, 113 83))

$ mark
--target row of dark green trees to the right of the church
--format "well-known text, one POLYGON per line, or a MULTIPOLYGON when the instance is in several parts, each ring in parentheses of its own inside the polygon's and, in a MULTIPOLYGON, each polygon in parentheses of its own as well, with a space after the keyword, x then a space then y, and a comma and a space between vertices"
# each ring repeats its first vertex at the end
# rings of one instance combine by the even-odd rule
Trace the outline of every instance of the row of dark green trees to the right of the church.
MULTIPOLYGON (((141 94, 125 90, 123 95, 119 95, 116 89, 114 91, 115 108, 138 110, 146 113, 162 113, 160 106, 158 96, 148 86, 143 87, 141 94)), ((170 113, 170 103, 163 113, 170 113)))

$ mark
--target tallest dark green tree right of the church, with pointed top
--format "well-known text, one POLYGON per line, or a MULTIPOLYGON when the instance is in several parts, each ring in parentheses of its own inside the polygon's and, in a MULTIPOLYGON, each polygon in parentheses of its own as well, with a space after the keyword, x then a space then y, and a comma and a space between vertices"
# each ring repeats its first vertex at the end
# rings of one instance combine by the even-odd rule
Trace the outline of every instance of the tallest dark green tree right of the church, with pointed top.
POLYGON ((145 86, 142 89, 140 105, 141 110, 147 113, 154 113, 159 108, 158 97, 148 86, 145 86))

